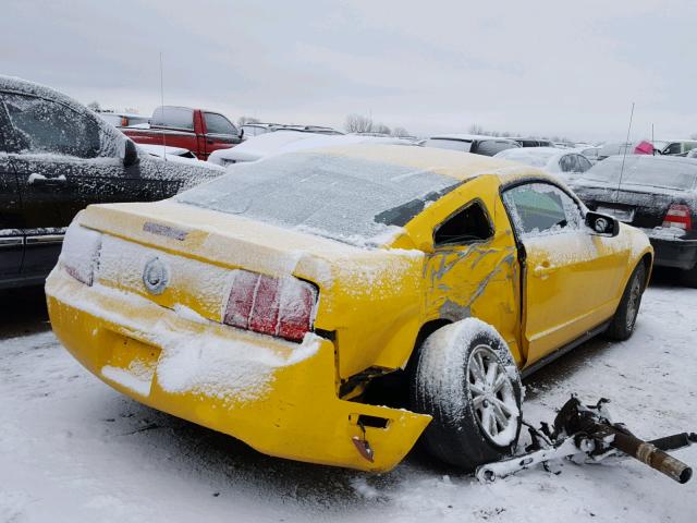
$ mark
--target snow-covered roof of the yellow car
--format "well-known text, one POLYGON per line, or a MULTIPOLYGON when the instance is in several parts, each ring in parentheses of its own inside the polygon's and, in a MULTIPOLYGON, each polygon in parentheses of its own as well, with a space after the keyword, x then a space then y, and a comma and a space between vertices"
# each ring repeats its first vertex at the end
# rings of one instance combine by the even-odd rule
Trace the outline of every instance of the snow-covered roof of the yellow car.
POLYGON ((415 147, 390 144, 353 144, 308 149, 302 153, 317 156, 339 156, 376 163, 391 163, 419 171, 430 171, 465 181, 482 174, 493 174, 501 183, 521 178, 537 178, 558 181, 545 171, 511 160, 473 155, 436 147, 415 147))

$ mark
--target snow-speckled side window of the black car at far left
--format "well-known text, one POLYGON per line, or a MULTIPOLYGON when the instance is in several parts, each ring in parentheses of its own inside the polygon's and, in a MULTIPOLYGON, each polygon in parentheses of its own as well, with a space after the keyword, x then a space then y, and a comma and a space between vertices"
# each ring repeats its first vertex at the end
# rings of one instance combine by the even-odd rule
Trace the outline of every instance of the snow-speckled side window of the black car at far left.
POLYGON ((4 93, 2 98, 19 153, 78 158, 99 155, 99 126, 94 119, 46 98, 15 93, 4 93))

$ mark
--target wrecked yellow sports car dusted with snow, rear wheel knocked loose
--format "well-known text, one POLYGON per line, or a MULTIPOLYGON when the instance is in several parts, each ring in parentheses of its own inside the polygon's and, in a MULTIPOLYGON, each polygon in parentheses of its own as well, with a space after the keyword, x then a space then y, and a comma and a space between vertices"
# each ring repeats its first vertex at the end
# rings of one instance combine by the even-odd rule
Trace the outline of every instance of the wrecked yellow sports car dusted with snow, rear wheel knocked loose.
POLYGON ((651 258, 534 168, 355 145, 90 206, 46 292, 68 350, 155 409, 364 471, 423 435, 472 470, 515 446, 521 374, 632 335, 651 258))

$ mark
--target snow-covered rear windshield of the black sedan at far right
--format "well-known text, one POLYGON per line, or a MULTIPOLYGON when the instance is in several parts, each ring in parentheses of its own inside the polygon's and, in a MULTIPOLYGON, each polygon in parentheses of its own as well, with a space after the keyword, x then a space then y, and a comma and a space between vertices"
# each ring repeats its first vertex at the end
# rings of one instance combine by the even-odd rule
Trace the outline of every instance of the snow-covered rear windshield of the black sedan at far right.
MULTIPOLYGON (((622 157, 616 156, 596 163, 586 171, 583 180, 602 182, 607 185, 620 183, 622 157)), ((697 186, 697 162, 671 161, 653 157, 627 156, 624 160, 622 184, 689 191, 697 186)))

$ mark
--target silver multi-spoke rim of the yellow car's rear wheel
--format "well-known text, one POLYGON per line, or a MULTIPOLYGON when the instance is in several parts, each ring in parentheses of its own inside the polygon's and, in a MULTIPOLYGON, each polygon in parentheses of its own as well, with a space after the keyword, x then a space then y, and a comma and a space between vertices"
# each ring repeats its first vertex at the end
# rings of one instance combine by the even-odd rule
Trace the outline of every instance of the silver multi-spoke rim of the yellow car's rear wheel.
MULTIPOLYGON (((518 418, 513 380, 490 346, 477 345, 469 354, 467 389, 485 435, 496 442, 502 433, 511 434, 510 427, 517 425, 518 418)), ((516 431, 513 430, 511 440, 516 431)))

